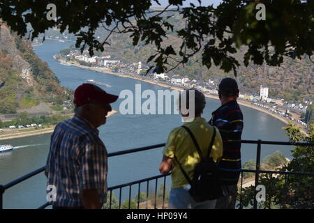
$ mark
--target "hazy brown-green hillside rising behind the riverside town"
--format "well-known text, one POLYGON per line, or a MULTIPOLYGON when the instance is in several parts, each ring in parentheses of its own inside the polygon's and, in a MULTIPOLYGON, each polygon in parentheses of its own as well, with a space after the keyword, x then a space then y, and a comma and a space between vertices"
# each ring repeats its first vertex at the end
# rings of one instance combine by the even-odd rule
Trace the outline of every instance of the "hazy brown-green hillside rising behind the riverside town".
MULTIPOLYGON (((169 22, 174 24, 174 31, 183 28, 185 25, 184 20, 179 15, 171 17, 169 22)), ((164 44, 179 49, 181 40, 174 31, 170 33, 164 44)), ((104 38, 107 32, 99 29, 96 34, 100 38, 104 38)), ((105 54, 112 54, 115 59, 129 62, 146 62, 149 56, 156 54, 154 47, 151 45, 142 44, 134 47, 132 38, 128 34, 113 33, 110 41, 111 46, 105 47, 105 54)), ((234 56, 241 62, 245 52, 246 49, 241 48, 234 56)), ((175 62, 172 61, 172 64, 175 64, 175 62)), ((263 84, 269 86, 269 94, 272 97, 298 101, 301 101, 304 97, 314 99, 314 63, 306 56, 303 60, 293 60, 285 57, 280 67, 255 66, 253 64, 245 67, 242 65, 237 72, 242 92, 259 93, 260 85, 263 84)), ((196 54, 184 68, 179 66, 173 70, 172 74, 205 81, 207 79, 216 79, 218 81, 221 77, 234 77, 233 72, 226 74, 216 66, 213 66, 210 70, 202 66, 200 54, 196 54)))

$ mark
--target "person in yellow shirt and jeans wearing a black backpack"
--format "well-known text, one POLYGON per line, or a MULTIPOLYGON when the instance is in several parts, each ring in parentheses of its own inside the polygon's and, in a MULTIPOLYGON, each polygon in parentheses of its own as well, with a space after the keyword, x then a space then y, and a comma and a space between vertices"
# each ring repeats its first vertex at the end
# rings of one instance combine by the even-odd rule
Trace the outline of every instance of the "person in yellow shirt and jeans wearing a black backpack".
MULTIPOLYGON (((183 91, 182 93, 187 94, 187 108, 190 107, 190 109, 195 109, 195 117, 190 118, 188 122, 184 123, 184 126, 189 128, 190 131, 193 133, 197 144, 199 144, 202 153, 205 155, 207 154, 207 150, 209 148, 209 144, 211 142, 211 138, 213 137, 214 132, 214 127, 209 125, 209 123, 207 123, 207 121, 201 117, 201 114, 206 104, 205 97, 200 91, 197 91, 195 89, 183 91), (190 91, 194 91, 194 103, 193 100, 188 100, 188 95, 190 95, 190 91)), ((179 105, 181 105, 181 103, 179 103, 179 105)), ((181 115, 183 116, 183 118, 188 116, 188 114, 182 114, 182 112, 181 115)), ((200 162, 200 155, 197 153, 197 149, 195 148, 195 144, 193 143, 190 135, 182 127, 174 128, 170 132, 165 148, 163 149, 163 160, 159 166, 159 171, 162 174, 167 174, 172 169, 172 186, 170 191, 170 199, 168 201, 168 208, 214 208, 216 200, 196 203, 193 198, 190 197, 190 194, 188 193, 190 185, 188 183, 188 180, 186 180, 186 178, 184 177, 184 174, 182 173, 179 164, 177 162, 173 162, 174 155, 177 157, 177 160, 186 171, 186 174, 188 174, 189 178, 192 179, 195 165, 200 162)), ((210 156, 213 157, 213 160, 215 162, 217 162, 218 159, 222 157, 222 155, 223 142, 220 137, 219 131, 216 129, 216 137, 214 139, 214 145, 212 146, 210 156)))

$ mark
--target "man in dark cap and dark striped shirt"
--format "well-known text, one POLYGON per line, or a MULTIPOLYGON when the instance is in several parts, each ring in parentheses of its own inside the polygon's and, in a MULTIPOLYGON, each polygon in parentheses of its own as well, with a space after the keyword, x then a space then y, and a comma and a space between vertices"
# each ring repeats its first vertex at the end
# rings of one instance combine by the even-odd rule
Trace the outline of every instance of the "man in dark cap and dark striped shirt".
POLYGON ((241 134, 243 114, 237 103, 239 89, 232 78, 223 79, 218 87, 221 106, 212 113, 209 124, 218 128, 223 139, 223 157, 219 161, 220 180, 227 185, 229 194, 217 199, 216 209, 234 209, 237 183, 241 171, 241 134))

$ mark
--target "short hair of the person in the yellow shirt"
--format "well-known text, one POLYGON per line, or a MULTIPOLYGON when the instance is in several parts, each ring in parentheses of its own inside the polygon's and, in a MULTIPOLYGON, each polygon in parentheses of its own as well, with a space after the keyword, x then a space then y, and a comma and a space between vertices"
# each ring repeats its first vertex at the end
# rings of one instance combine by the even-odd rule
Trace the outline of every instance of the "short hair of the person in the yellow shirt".
POLYGON ((189 100, 190 91, 194 91, 195 114, 202 114, 203 109, 206 105, 205 96, 202 92, 200 92, 194 88, 181 91, 180 97, 179 97, 179 109, 181 109, 181 96, 183 94, 186 94, 186 108, 189 109, 189 107, 190 107, 190 100, 189 100))

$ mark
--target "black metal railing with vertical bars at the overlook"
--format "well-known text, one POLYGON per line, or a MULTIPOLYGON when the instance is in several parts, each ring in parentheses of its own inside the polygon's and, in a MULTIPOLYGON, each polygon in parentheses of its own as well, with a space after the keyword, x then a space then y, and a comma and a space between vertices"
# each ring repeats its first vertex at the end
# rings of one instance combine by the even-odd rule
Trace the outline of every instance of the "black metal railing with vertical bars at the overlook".
MULTIPOLYGON (((259 176, 260 174, 284 174, 285 176, 287 175, 304 175, 304 176, 311 176, 314 178, 314 173, 301 173, 301 172, 283 172, 283 171, 266 171, 266 170, 261 170, 260 169, 260 155, 261 155, 261 149, 262 149, 262 144, 264 145, 281 145, 281 146, 311 146, 314 148, 314 143, 292 143, 292 142, 283 142, 283 141, 262 141, 262 140, 241 140, 242 144, 257 144, 257 153, 256 153, 256 167, 255 170, 248 170, 248 169, 242 169, 241 170, 241 192, 240 192, 240 208, 241 208, 241 200, 242 200, 242 186, 243 186, 243 173, 254 173, 255 174, 255 195, 257 193, 256 191, 256 187, 259 183, 259 176)), ((114 152, 114 153, 109 153, 108 157, 113 157, 113 156, 117 156, 117 155, 125 155, 128 153, 136 153, 136 152, 140 152, 140 151, 148 151, 151 149, 155 149, 155 148, 160 148, 165 146, 165 144, 157 144, 157 145, 153 145, 153 146, 144 146, 141 148, 134 148, 134 149, 130 149, 130 150, 126 150, 126 151, 119 151, 119 152, 114 152)), ((40 169, 36 169, 35 171, 26 174, 20 178, 17 178, 16 180, 11 181, 10 183, 6 184, 6 185, 0 185, 0 209, 3 208, 3 194, 4 192, 6 192, 6 190, 8 190, 10 187, 13 187, 15 185, 17 185, 18 183, 23 182, 24 180, 27 180, 29 178, 31 178, 32 176, 36 176, 37 174, 40 174, 41 172, 45 171, 45 167, 41 167, 40 169)), ((129 196, 128 196, 128 208, 132 208, 131 207, 131 192, 132 192, 132 187, 133 185, 138 185, 138 199, 137 199, 137 208, 140 208, 140 203, 142 203, 140 201, 140 188, 141 185, 143 183, 146 183, 146 189, 147 189, 147 201, 146 201, 146 208, 148 208, 148 197, 149 197, 149 182, 154 180, 155 181, 155 192, 154 192, 154 208, 165 208, 165 188, 166 188, 166 178, 167 176, 169 176, 170 174, 162 174, 162 175, 158 175, 158 176, 153 176, 150 178, 144 178, 142 180, 136 180, 130 183, 126 183, 126 184, 122 184, 122 185, 117 185, 114 187, 109 187, 108 188, 108 196, 109 196, 109 206, 107 205, 106 208, 112 208, 112 194, 114 190, 119 190, 119 205, 117 206, 117 208, 121 208, 121 192, 122 192, 122 188, 124 187, 129 187, 129 196), (158 187, 158 179, 163 178, 163 194, 162 197, 162 203, 161 206, 158 207, 157 205, 157 187, 158 187)), ((256 209, 257 208, 257 200, 253 199, 254 203, 253 203, 253 208, 256 209)), ((50 203, 47 202, 45 204, 43 204, 43 206, 40 206, 38 209, 43 209, 46 208, 47 206, 50 206, 50 203)), ((151 207, 152 205, 150 205, 151 207)))

